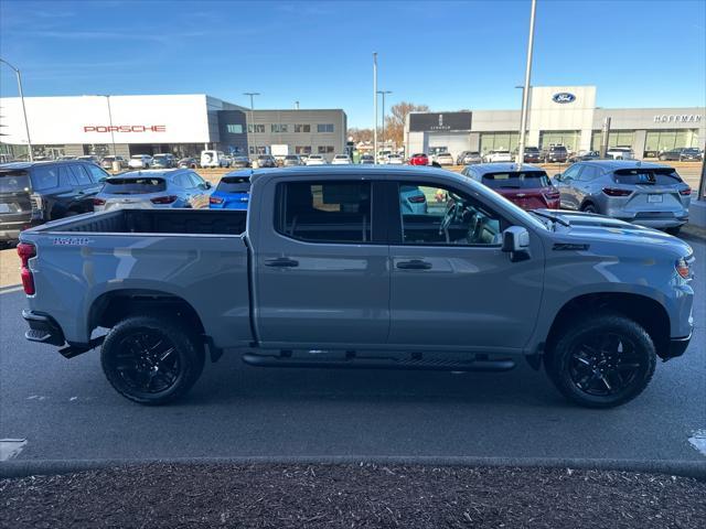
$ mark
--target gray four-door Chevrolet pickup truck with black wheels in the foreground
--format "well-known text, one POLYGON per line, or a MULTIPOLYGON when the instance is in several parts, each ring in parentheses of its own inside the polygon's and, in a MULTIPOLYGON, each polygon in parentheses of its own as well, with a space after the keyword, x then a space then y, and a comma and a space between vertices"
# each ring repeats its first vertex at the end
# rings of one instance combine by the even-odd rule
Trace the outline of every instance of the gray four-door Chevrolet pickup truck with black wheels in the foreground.
POLYGON ((685 242, 584 213, 526 213, 415 166, 243 171, 247 212, 116 209, 21 234, 28 339, 145 404, 224 352, 277 367, 543 365, 571 401, 624 403, 692 334, 685 242))

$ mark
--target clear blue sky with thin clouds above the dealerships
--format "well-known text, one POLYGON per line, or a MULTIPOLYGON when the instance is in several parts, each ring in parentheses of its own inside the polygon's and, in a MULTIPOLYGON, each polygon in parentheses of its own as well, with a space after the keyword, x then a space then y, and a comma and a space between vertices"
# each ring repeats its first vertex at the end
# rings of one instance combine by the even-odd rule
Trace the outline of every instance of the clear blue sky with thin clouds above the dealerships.
MULTIPOLYGON (((25 96, 208 94, 256 108, 520 108, 530 0, 0 0, 0 57, 25 96)), ((538 0, 532 85, 596 85, 597 105, 706 106, 706 1, 538 0)), ((0 94, 17 95, 0 65, 0 94)))

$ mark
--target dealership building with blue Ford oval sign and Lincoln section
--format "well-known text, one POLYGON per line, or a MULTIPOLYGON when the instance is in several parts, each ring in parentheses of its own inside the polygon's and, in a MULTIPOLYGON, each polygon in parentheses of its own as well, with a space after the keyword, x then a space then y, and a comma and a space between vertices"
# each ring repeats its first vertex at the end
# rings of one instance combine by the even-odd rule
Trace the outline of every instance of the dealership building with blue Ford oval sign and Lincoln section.
MULTIPOLYGON (((530 93, 526 144, 564 144, 598 151, 606 118, 609 147, 630 147, 637 158, 681 147, 704 149, 706 108, 601 108, 595 86, 535 86, 530 93)), ((520 110, 413 112, 405 123, 407 153, 486 153, 517 148, 520 110)))

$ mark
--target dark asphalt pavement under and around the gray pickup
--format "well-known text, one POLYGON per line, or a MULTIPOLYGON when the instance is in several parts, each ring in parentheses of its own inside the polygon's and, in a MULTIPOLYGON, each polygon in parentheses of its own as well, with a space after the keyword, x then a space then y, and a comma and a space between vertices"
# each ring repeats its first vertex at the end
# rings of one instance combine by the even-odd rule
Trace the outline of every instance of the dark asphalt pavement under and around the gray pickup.
POLYGON ((261 369, 226 355, 163 408, 119 397, 97 352, 72 360, 23 338, 24 294, 0 293, 0 457, 238 456, 706 458, 706 244, 696 253, 697 328, 633 402, 566 403, 544 373, 261 369), (13 440, 13 441, 7 441, 13 440), (699 451, 700 450, 700 451, 699 451))

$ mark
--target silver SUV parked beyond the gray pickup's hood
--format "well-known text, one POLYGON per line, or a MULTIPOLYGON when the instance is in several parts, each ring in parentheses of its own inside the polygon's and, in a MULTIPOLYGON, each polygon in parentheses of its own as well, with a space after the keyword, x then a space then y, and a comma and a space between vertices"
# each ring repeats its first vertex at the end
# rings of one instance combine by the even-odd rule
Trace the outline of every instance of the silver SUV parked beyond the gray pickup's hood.
POLYGON ((678 233, 691 187, 667 165, 634 160, 577 162, 554 179, 561 207, 678 233))

